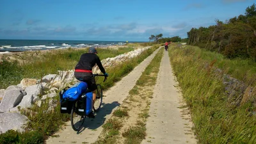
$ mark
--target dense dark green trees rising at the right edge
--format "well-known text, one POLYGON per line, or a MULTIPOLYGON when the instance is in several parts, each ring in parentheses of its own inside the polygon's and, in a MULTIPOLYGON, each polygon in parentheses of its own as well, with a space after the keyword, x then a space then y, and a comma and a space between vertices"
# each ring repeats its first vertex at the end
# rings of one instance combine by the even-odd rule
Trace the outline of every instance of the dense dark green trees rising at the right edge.
POLYGON ((225 22, 216 20, 208 28, 192 28, 188 44, 216 51, 227 58, 253 58, 256 61, 256 5, 248 6, 244 15, 225 22))

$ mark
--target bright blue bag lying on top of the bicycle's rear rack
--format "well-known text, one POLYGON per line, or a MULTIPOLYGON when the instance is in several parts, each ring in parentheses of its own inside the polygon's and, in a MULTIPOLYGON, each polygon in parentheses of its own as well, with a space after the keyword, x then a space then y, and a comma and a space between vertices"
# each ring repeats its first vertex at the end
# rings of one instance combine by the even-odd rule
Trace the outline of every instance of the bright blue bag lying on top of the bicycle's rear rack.
POLYGON ((68 101, 77 100, 82 93, 86 92, 87 87, 87 83, 83 81, 76 83, 63 94, 63 99, 68 101))

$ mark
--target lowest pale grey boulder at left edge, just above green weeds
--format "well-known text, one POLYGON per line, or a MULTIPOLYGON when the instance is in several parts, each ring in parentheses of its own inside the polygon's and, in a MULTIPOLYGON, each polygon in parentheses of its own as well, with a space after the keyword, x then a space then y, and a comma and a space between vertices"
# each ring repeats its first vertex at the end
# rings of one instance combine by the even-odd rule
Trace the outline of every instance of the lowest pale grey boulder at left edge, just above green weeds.
POLYGON ((4 133, 10 129, 24 132, 22 126, 26 124, 27 116, 20 115, 20 113, 2 113, 0 116, 0 129, 4 133))

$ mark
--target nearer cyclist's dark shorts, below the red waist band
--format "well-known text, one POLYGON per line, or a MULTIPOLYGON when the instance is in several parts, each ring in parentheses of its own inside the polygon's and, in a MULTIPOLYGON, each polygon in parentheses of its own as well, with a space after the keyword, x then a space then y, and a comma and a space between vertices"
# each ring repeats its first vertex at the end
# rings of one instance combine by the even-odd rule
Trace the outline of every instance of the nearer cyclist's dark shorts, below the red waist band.
POLYGON ((75 72, 74 76, 79 81, 85 81, 88 84, 88 89, 93 91, 97 89, 97 85, 95 83, 95 77, 92 76, 90 72, 75 72))

